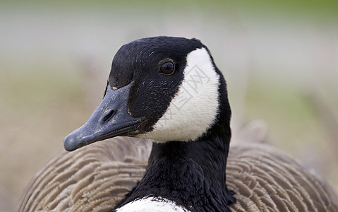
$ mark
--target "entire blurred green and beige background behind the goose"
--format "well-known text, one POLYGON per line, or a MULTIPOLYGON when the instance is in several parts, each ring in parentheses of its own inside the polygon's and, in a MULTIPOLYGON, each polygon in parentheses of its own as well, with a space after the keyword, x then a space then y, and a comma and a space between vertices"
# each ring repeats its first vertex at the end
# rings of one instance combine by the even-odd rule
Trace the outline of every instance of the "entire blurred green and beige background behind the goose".
POLYGON ((336 0, 0 1, 0 30, 1 211, 85 123, 117 49, 157 35, 209 47, 235 138, 256 120, 268 143, 338 189, 336 0))

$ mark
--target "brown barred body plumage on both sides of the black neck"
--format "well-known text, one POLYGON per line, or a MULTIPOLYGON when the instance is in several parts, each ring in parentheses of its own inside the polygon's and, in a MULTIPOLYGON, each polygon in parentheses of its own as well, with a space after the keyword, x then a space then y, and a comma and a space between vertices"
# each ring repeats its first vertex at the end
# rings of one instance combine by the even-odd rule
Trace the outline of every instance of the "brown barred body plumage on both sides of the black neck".
MULTIPOLYGON (((62 152, 32 179, 16 211, 108 211, 143 176, 151 142, 127 137, 62 152)), ((296 160, 259 144, 231 146, 231 211, 338 211, 337 194, 296 160)))

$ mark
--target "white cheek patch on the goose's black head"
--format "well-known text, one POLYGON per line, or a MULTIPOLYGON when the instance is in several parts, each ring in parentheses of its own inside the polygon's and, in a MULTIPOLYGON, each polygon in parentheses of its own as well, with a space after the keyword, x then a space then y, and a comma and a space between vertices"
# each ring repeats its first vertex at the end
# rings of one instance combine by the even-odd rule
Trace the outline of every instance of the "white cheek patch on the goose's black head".
POLYGON ((194 141, 215 123, 219 107, 219 74, 205 48, 187 55, 184 80, 154 129, 138 137, 165 141, 194 141))

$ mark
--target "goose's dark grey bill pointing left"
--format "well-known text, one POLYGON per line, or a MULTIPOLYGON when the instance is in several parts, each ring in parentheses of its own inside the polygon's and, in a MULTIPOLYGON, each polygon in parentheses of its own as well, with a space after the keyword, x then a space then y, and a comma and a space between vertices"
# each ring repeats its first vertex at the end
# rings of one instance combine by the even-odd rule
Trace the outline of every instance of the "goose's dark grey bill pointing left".
POLYGON ((127 109, 132 84, 116 90, 108 85, 106 95, 88 121, 64 139, 66 151, 115 136, 128 136, 137 130, 143 117, 133 117, 127 109))

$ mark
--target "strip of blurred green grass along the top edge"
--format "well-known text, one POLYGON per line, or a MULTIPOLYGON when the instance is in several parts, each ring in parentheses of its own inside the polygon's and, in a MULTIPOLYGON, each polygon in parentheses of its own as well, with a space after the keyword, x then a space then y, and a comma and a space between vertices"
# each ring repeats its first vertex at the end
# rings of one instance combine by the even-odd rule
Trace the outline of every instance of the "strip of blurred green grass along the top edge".
POLYGON ((327 13, 332 13, 334 15, 337 15, 337 8, 338 3, 334 0, 256 0, 256 1, 250 1, 250 0, 237 0, 237 1, 231 1, 231 0, 211 0, 211 1, 203 1, 203 0, 190 0, 190 1, 179 1, 179 0, 173 0, 173 1, 154 1, 154 0, 145 0, 145 1, 137 1, 137 0, 131 0, 131 1, 117 1, 117 0, 99 0, 99 1, 40 1, 40 0, 30 0, 30 1, 1 1, 1 4, 4 5, 47 5, 47 6, 55 6, 55 5, 64 5, 64 6, 117 6, 117 7, 124 7, 124 6, 135 6, 135 8, 139 8, 136 6, 142 6, 141 9, 147 8, 158 8, 162 7, 165 9, 166 6, 169 6, 168 9, 171 7, 174 7, 176 9, 180 8, 186 8, 191 5, 198 5, 201 7, 209 6, 210 8, 213 8, 214 10, 222 9, 224 6, 236 6, 237 9, 249 9, 251 11, 255 11, 257 9, 269 9, 270 11, 288 11, 288 12, 294 12, 297 13, 306 13, 306 12, 313 12, 316 13, 322 12, 323 14, 327 15, 327 13), (81 4, 79 4, 81 3, 81 4))

